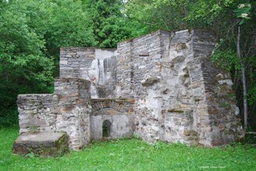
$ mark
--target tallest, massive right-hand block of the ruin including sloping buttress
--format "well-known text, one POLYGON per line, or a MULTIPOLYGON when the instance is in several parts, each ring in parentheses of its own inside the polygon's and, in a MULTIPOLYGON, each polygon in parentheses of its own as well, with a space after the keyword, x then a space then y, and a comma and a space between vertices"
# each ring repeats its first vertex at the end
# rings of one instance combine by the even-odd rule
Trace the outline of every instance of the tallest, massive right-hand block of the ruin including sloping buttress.
POLYGON ((157 31, 119 44, 119 96, 136 100, 140 137, 212 146, 243 136, 234 98, 226 98, 234 97, 229 75, 210 59, 214 44, 205 30, 157 31))

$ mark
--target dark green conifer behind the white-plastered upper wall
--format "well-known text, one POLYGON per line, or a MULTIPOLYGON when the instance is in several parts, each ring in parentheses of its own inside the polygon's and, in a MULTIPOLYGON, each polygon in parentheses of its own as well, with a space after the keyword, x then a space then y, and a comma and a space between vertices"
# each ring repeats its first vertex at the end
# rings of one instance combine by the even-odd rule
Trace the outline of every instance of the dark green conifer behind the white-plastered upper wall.
POLYGON ((98 47, 116 47, 121 40, 130 38, 126 17, 121 12, 123 1, 85 0, 84 8, 89 12, 98 47))

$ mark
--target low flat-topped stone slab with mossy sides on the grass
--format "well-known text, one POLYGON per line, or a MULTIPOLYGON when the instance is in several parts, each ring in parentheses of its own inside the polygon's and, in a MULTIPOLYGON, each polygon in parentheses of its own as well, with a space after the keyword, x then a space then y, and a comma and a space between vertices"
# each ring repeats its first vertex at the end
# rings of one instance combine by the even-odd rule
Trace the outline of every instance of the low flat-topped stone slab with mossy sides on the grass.
POLYGON ((59 156, 69 151, 68 139, 65 133, 48 131, 21 134, 13 143, 12 152, 18 155, 33 152, 40 156, 59 156))

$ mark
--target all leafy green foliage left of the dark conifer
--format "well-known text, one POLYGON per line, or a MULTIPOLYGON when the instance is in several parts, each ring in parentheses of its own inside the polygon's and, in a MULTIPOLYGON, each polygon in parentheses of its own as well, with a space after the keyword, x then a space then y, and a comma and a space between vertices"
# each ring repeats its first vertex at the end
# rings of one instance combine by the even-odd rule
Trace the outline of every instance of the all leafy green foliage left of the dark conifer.
POLYGON ((94 46, 91 19, 80 1, 0 4, 0 126, 17 123, 16 96, 53 92, 59 47, 94 46))

